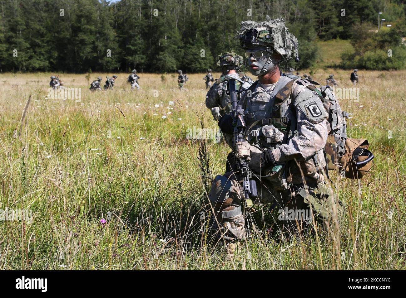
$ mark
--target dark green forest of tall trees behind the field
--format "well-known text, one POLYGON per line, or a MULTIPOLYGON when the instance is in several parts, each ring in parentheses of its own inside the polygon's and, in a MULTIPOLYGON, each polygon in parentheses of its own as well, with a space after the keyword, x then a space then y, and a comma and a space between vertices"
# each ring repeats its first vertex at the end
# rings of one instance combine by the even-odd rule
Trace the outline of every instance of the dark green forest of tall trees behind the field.
POLYGON ((356 40, 378 12, 406 35, 404 0, 0 0, 0 71, 205 71, 224 51, 242 54, 240 21, 266 15, 299 40, 289 66, 309 68, 317 40, 356 40))

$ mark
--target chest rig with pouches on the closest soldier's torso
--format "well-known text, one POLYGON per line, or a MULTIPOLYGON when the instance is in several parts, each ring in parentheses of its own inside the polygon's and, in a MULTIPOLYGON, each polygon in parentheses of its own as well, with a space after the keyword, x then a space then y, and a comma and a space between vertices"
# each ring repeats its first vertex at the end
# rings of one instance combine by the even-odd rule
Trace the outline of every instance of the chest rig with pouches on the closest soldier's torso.
POLYGON ((246 139, 260 148, 278 148, 296 126, 296 115, 290 108, 294 80, 281 77, 271 94, 257 88, 257 84, 250 89, 259 91, 253 92, 252 99, 246 102, 246 139))

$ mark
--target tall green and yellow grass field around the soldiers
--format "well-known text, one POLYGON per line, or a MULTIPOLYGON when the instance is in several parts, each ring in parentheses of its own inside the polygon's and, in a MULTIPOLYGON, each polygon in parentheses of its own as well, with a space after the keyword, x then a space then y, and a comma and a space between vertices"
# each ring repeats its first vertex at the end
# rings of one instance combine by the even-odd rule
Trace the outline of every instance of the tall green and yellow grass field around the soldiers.
MULTIPOLYGON (((340 101, 348 135, 368 139, 376 158, 359 182, 333 177, 347 209, 339 235, 281 237, 275 213, 257 205, 256 230, 233 259, 208 243, 204 191, 229 149, 186 139, 201 121, 217 129, 204 74, 189 75, 184 92, 175 74, 140 74, 134 92, 118 74, 114 90, 94 93, 84 75, 61 74, 80 99, 50 98, 50 75, 0 75, 0 209, 33 215, 0 222, 0 268, 406 269, 406 71, 360 71, 359 102, 340 101)), ((335 71, 340 87, 352 87, 349 75, 335 71)))

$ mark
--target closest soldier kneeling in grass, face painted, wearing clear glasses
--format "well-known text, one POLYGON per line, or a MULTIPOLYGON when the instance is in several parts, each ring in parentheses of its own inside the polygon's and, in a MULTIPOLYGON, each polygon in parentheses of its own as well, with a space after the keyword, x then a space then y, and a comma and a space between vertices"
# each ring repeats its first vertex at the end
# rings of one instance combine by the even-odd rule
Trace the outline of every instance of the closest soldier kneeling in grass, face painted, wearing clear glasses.
MULTIPOLYGON (((308 227, 313 220, 324 228, 331 227, 339 223, 343 208, 323 175, 328 113, 313 85, 291 79, 279 69, 279 64, 297 51, 297 39, 281 19, 266 16, 264 22, 240 25, 237 36, 251 74, 259 79, 238 102, 246 124, 244 145, 250 149, 249 173, 257 182, 258 196, 252 199, 278 206, 284 230, 294 229, 296 223, 298 229, 308 227), (301 210, 308 216, 291 218, 289 210, 294 215, 301 210)), ((233 133, 232 116, 223 116, 219 126, 222 132, 233 133)), ((242 205, 252 204, 244 195, 239 164, 231 152, 226 173, 213 180, 208 195, 214 210, 212 232, 226 242, 230 252, 235 250, 232 242, 246 235, 243 210, 249 208, 242 205)))

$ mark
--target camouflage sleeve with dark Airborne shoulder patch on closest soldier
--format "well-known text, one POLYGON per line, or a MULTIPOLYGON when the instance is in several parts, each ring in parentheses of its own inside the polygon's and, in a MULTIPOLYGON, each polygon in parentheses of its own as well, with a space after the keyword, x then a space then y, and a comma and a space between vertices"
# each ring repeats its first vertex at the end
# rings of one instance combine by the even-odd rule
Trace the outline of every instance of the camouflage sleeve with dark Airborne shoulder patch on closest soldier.
POLYGON ((287 144, 272 150, 276 163, 307 159, 326 145, 329 126, 319 96, 305 88, 296 96, 293 105, 297 119, 296 131, 287 144))

